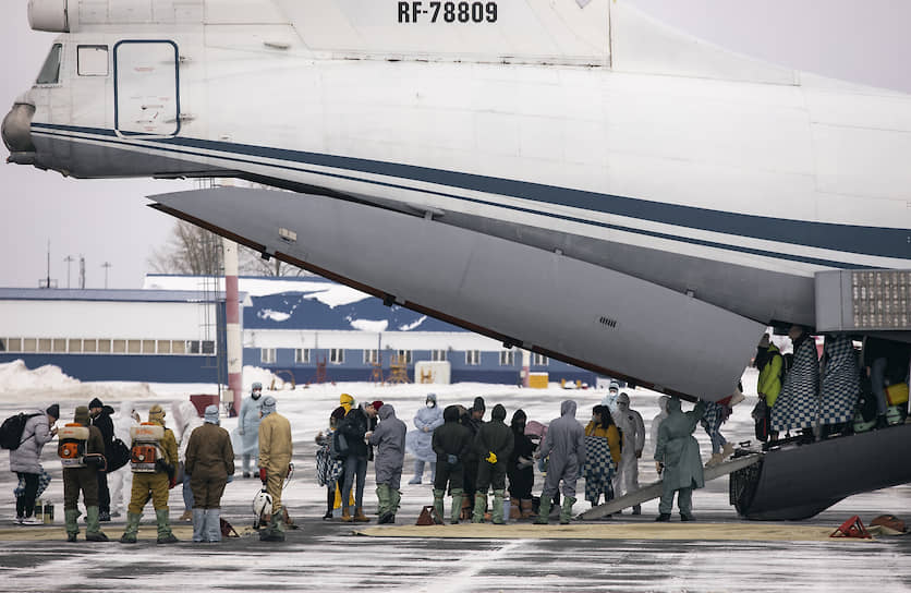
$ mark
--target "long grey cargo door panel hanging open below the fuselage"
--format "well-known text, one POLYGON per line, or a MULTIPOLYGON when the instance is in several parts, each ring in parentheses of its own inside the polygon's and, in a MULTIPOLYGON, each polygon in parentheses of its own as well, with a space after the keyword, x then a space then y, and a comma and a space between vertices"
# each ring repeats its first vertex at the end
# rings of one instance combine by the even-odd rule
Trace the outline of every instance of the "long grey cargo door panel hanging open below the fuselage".
POLYGON ((689 399, 737 387, 765 326, 578 259, 317 195, 221 187, 159 209, 506 344, 689 399))

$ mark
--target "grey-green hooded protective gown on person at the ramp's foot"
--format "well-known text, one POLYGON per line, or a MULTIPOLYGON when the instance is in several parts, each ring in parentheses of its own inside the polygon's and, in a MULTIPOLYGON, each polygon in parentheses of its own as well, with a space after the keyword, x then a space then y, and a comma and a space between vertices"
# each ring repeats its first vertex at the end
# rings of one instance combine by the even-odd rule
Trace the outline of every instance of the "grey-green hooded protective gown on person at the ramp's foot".
POLYGON ((693 437, 705 404, 700 401, 692 412, 683 412, 678 398, 667 404, 668 416, 658 428, 655 461, 665 464, 661 479, 673 489, 701 488, 705 485, 702 473, 700 446, 693 437))

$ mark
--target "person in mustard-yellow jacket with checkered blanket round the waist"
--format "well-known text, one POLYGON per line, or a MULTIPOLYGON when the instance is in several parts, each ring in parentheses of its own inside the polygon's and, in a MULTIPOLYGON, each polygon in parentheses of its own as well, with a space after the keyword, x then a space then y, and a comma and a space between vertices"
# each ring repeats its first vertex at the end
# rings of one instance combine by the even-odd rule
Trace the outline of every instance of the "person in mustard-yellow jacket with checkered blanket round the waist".
POLYGON ((621 455, 620 431, 607 406, 592 409, 592 421, 585 425, 585 499, 598 505, 602 494, 607 503, 614 498, 611 480, 621 455))

